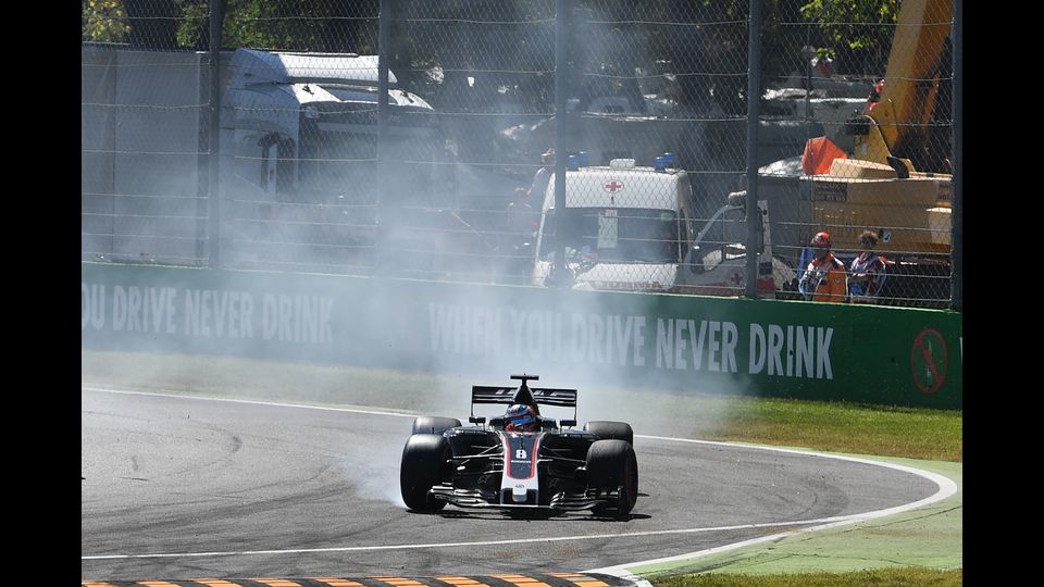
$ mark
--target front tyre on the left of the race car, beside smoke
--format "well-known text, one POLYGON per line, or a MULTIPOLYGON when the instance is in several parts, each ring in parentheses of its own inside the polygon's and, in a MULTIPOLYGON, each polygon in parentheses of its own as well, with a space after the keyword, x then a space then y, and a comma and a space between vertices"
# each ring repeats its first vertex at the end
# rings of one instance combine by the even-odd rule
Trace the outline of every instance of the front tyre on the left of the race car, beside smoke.
POLYGON ((418 512, 435 512, 446 507, 428 489, 443 480, 446 462, 452 455, 449 440, 437 434, 414 434, 402 448, 399 489, 406 507, 418 512))

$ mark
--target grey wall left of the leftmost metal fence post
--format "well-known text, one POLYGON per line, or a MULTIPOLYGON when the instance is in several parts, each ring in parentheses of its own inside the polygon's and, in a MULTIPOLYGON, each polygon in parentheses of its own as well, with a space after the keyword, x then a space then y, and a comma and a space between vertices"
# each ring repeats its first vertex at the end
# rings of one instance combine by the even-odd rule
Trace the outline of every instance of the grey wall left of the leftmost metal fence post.
POLYGON ((84 258, 191 264, 206 237, 206 55, 96 46, 82 55, 84 258))

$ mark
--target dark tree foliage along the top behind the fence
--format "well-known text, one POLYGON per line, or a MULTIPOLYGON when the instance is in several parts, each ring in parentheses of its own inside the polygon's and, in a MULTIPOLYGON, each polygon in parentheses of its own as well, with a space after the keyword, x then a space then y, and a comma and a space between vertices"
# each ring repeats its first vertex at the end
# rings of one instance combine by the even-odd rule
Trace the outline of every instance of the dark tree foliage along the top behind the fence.
MULTIPOLYGON (((681 102, 713 100, 729 113, 745 112, 749 0, 577 0, 570 5, 570 59, 588 79, 616 83, 636 67, 670 70, 681 102)), ((761 85, 773 87, 805 70, 806 46, 834 59, 837 73, 880 74, 899 0, 763 0, 761 5, 761 85)), ((132 45, 169 37, 163 47, 176 42, 203 50, 210 9, 211 0, 84 0, 83 37, 132 45), (163 14, 152 14, 157 2, 169 7, 163 14), (150 14, 163 16, 157 22, 170 30, 137 34, 150 14)), ((221 45, 372 54, 378 9, 380 0, 225 0, 221 45)), ((447 84, 460 83, 453 78, 469 76, 475 84, 471 93, 480 85, 490 91, 507 85, 540 111, 554 99, 554 1, 393 0, 391 11, 391 66, 405 87, 437 100, 447 84)))

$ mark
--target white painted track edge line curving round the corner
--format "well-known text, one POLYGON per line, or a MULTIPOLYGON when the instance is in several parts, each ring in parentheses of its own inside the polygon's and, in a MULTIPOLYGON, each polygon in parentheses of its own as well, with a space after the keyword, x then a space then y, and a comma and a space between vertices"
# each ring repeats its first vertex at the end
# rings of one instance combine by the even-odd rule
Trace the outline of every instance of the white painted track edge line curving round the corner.
MULTIPOLYGON (((277 408, 295 408, 301 410, 320 410, 327 412, 351 412, 358 414, 373 414, 373 415, 388 415, 388 416, 398 416, 398 417, 414 417, 414 414, 406 414, 401 412, 389 412, 389 411, 377 411, 377 410, 357 410, 352 408, 332 408, 323 405, 307 405, 299 403, 282 403, 282 402, 272 402, 272 401, 259 401, 259 400, 243 400, 243 399, 228 399, 228 398, 213 398, 213 397, 202 397, 202 396, 188 396, 183 394, 169 394, 169 392, 156 392, 156 391, 136 391, 128 389, 112 389, 107 387, 98 386, 80 386, 82 390, 86 391, 99 391, 103 394, 123 394, 123 395, 134 395, 134 396, 151 396, 151 397, 162 397, 162 398, 173 398, 173 399, 188 399, 188 400, 200 400, 200 401, 223 401, 229 403, 247 403, 254 405, 271 405, 277 408)), ((480 546, 501 546, 501 545, 520 545, 520 544, 534 544, 534 542, 561 542, 568 540, 592 540, 592 539, 608 539, 608 538, 633 538, 641 536, 662 536, 670 534, 697 534, 697 533, 708 533, 708 532, 724 532, 724 530, 736 530, 736 529, 755 529, 755 528, 770 528, 770 527, 781 527, 781 526, 804 526, 813 524, 810 528, 801 528, 797 530, 784 532, 780 534, 773 534, 771 536, 762 536, 759 538, 753 538, 750 540, 743 540, 741 542, 735 542, 732 545, 725 545, 721 547, 716 547, 707 550, 700 550, 696 552, 689 552, 687 554, 680 554, 676 557, 667 557, 662 559, 651 559, 647 561, 633 562, 627 564, 620 564, 614 566, 607 566, 604 569, 593 569, 589 571, 583 571, 584 573, 605 573, 609 575, 616 575, 632 580, 636 580, 645 584, 643 579, 634 576, 627 569, 647 565, 647 564, 658 564, 666 562, 676 562, 687 559, 695 559, 698 557, 706 557, 708 554, 714 554, 718 552, 724 552, 726 550, 732 550, 736 548, 742 548, 749 545, 755 545, 758 542, 765 542, 770 540, 778 540, 786 536, 794 536, 797 534, 813 532, 820 529, 832 528, 836 526, 843 526, 846 524, 855 524, 857 522, 863 522, 867 520, 873 520, 877 517, 883 517, 886 515, 893 515, 902 512, 907 512, 930 503, 935 503, 943 499, 948 498, 949 496, 957 492, 957 485, 936 473, 929 471, 921 471, 919 469, 913 469, 910 466, 884 463, 880 461, 871 461, 868 459, 860 459, 856 457, 842 457, 836 454, 822 454, 819 452, 811 452, 806 450, 794 450, 794 449, 784 449, 775 447, 766 447, 758 445, 742 445, 735 442, 719 442, 712 440, 694 440, 691 438, 673 438, 667 436, 647 436, 647 435, 635 435, 637 438, 648 438, 650 440, 663 440, 671 442, 689 442, 696 445, 714 445, 730 448, 747 448, 755 450, 770 450, 775 452, 786 452, 791 454, 801 454, 806 457, 817 457, 821 459, 835 459, 841 461, 852 461, 856 463, 870 464, 875 466, 884 466, 887 469, 894 469, 897 471, 903 471, 906 473, 911 473, 924 477, 939 486, 939 491, 934 495, 915 501, 912 503, 907 503, 905 505, 897 505, 894 508, 888 508, 885 510, 877 510, 873 512, 866 512, 859 514, 842 515, 842 516, 832 516, 832 517, 820 517, 816 520, 797 520, 790 522, 769 522, 763 524, 739 524, 734 526, 716 526, 716 527, 706 527, 706 528, 682 528, 682 529, 671 529, 671 530, 647 530, 647 532, 630 532, 630 533, 620 533, 620 534, 600 534, 600 535, 583 535, 583 536, 560 536, 554 538, 521 538, 521 539, 511 539, 511 540, 483 540, 483 541, 473 541, 473 542, 440 542, 440 544, 425 544, 425 545, 386 545, 386 546, 372 546, 372 547, 332 547, 332 548, 308 548, 308 549, 286 549, 286 550, 244 550, 244 551, 214 551, 214 552, 169 552, 169 553, 152 553, 152 554, 94 554, 94 555, 82 555, 82 561, 97 561, 97 560, 113 560, 113 559, 170 559, 170 558, 182 558, 182 557, 236 557, 236 555, 250 555, 250 554, 300 554, 308 552, 360 552, 360 551, 376 551, 376 550, 418 550, 418 549, 438 549, 438 548, 468 548, 468 547, 480 547, 480 546)))

